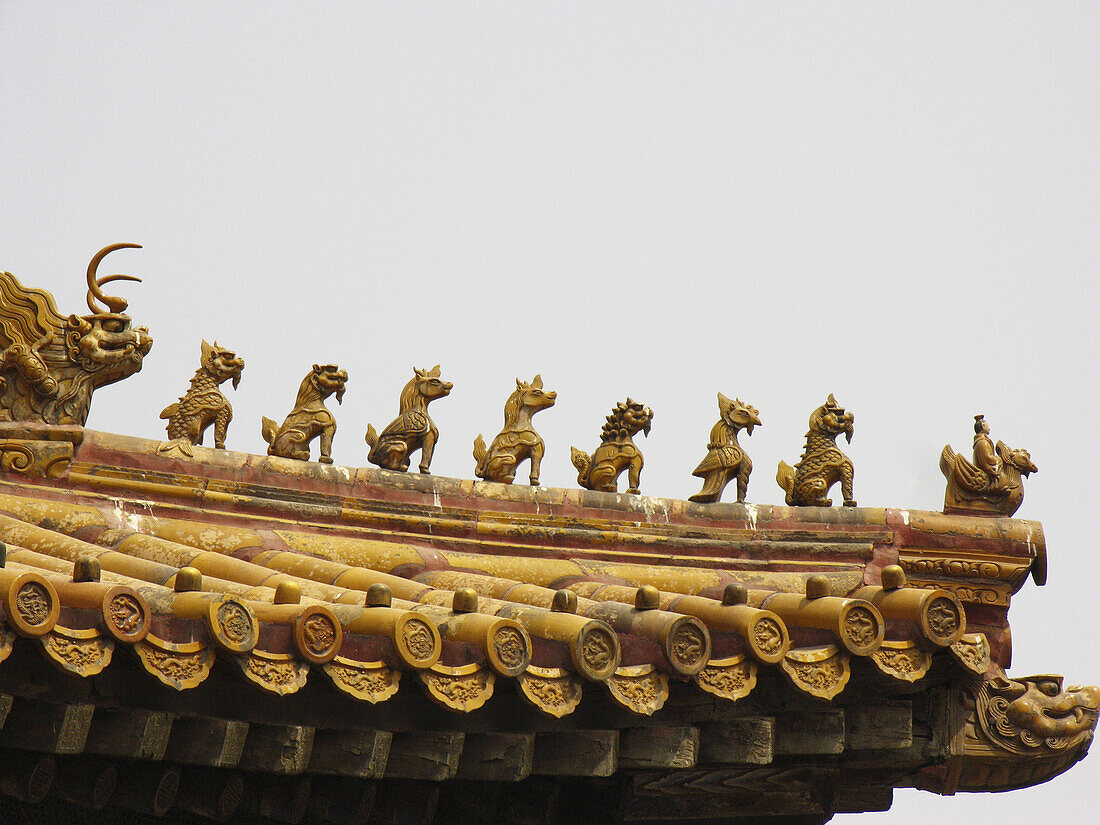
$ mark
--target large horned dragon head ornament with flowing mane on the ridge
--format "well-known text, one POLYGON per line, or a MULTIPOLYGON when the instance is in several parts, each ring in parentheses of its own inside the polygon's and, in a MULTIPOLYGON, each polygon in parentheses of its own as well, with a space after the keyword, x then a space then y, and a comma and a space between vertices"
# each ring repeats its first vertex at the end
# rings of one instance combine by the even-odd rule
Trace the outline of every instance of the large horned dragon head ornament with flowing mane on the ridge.
POLYGON ((105 295, 112 280, 141 280, 132 275, 98 278, 99 263, 136 243, 114 243, 88 264, 91 315, 67 318, 44 289, 23 286, 0 272, 0 421, 79 425, 88 420, 91 394, 133 375, 153 346, 145 327, 132 327, 127 301, 105 295))

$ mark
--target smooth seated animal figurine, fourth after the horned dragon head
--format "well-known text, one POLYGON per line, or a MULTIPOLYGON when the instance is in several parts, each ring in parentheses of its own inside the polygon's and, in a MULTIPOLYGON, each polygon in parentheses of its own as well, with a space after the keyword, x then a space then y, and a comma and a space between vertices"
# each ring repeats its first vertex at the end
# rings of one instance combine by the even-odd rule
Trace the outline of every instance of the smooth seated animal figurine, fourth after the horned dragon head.
POLYGON ((536 375, 527 384, 516 378, 516 392, 508 396, 504 405, 504 429, 486 450, 485 440, 477 436, 474 441, 474 458, 477 466, 474 475, 485 481, 512 484, 516 468, 526 459, 531 461, 531 486, 539 484, 539 468, 546 449, 542 438, 531 426, 531 416, 540 409, 552 407, 558 394, 543 392, 542 376, 536 375))

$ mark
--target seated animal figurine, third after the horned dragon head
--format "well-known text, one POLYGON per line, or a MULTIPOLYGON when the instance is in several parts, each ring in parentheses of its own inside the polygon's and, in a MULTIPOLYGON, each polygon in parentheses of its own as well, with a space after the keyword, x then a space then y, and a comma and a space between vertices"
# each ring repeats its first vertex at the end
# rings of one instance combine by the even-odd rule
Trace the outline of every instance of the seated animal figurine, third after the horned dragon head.
POLYGON ((405 472, 409 455, 420 451, 420 472, 427 474, 439 430, 428 416, 428 405, 451 392, 454 385, 440 381, 439 364, 431 370, 413 369, 413 380, 402 391, 400 415, 386 425, 380 436, 373 425, 366 426, 366 443, 371 452, 366 460, 386 470, 405 472))

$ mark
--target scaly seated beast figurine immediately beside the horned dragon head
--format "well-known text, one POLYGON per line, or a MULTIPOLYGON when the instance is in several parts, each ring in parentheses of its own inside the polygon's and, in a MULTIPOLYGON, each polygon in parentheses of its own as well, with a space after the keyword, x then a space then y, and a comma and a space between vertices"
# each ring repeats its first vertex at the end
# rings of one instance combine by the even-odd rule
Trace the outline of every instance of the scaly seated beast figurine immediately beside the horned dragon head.
POLYGON ((191 378, 191 386, 179 402, 169 404, 161 411, 161 418, 168 419, 169 439, 157 448, 161 452, 178 447, 185 455, 194 455, 191 447, 202 443, 202 436, 211 424, 215 449, 226 449, 226 433, 229 431, 229 422, 233 420, 233 407, 222 394, 220 385, 232 381, 233 388, 237 389, 241 383, 244 359, 238 358, 232 350, 219 346, 217 341, 213 344, 204 341, 201 353, 201 362, 191 378))

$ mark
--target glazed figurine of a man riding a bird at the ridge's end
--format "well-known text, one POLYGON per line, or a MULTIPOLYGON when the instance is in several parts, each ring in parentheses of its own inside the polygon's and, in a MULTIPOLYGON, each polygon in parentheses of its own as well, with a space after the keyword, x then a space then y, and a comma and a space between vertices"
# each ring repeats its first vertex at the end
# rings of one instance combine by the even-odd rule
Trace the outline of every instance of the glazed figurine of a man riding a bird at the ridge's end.
POLYGON ((939 453, 939 471, 947 479, 944 513, 989 513, 1011 516, 1024 501, 1023 479, 1038 468, 1026 450, 1003 441, 993 446, 985 416, 974 417, 974 463, 950 444, 939 453))

